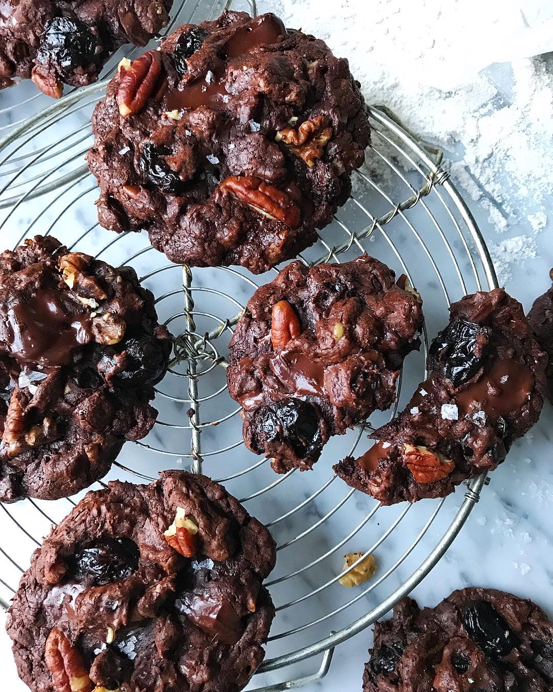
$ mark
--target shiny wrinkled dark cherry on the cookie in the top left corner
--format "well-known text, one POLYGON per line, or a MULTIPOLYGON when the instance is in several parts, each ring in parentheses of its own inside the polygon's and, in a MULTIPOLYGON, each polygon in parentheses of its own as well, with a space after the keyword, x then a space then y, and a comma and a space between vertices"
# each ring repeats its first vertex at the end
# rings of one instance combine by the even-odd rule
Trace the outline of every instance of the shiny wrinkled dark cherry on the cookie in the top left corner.
POLYGON ((52 60, 64 68, 74 69, 99 62, 103 51, 100 37, 93 34, 82 21, 54 17, 44 30, 37 60, 52 60))

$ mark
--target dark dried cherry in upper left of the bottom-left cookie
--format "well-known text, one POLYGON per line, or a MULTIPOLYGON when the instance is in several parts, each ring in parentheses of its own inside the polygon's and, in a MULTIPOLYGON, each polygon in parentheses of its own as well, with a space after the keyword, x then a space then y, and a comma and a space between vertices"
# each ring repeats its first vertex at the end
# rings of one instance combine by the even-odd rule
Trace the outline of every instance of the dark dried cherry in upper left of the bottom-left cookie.
POLYGON ((71 576, 104 586, 126 579, 138 567, 138 547, 129 538, 101 538, 75 554, 71 576))

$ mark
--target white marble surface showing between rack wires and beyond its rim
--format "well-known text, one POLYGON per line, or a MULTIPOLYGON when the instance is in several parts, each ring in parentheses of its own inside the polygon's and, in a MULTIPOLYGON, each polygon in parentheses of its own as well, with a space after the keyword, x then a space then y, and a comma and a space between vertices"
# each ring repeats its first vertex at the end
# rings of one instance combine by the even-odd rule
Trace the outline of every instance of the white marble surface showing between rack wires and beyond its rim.
MULTIPOLYGON (((63 134, 62 130, 59 130, 59 134, 63 134)), ((83 190, 82 197, 79 197, 71 208, 65 210, 67 203, 75 197, 75 190, 71 195, 59 200, 52 209, 47 210, 35 223, 33 230, 44 232, 53 222, 53 233, 64 242, 72 242, 79 237, 84 230, 94 224, 93 200, 96 193, 95 190, 84 192, 84 190, 92 187, 91 179, 87 179, 80 188, 83 190), (64 210, 63 213, 62 210, 64 210), (61 217, 59 217, 60 214, 62 214, 61 217)), ((395 201, 399 201, 399 199, 395 199, 395 201)), ((371 194, 367 196, 367 203, 369 206, 374 204, 375 208, 380 206, 380 203, 371 194)), ((470 206, 480 224, 482 233, 489 241, 496 242, 497 235, 487 224, 487 212, 480 210, 478 204, 471 204, 470 206)), ((2 246, 8 247, 16 242, 30 221, 41 214, 43 208, 44 199, 25 203, 18 208, 1 229, 2 246)), ((386 209, 384 208, 384 210, 386 209)), ((5 215, 0 215, 0 223, 4 218, 5 215)), ((422 234, 433 252, 441 257, 442 248, 437 240, 437 233, 431 224, 429 225, 427 217, 420 210, 413 210, 409 219, 413 220, 413 226, 422 234)), ((415 274, 416 283, 425 300, 429 336, 432 336, 446 320, 445 300, 440 293, 436 276, 433 274, 428 260, 424 260, 424 257, 422 259, 418 257, 413 235, 401 219, 397 220, 397 224, 393 223, 386 227, 386 231, 400 248, 409 270, 415 274)), ((521 229, 509 228, 507 233, 518 235, 521 233, 521 229)), ((550 284, 548 271, 553 265, 552 233, 552 228, 547 228, 537 237, 541 253, 526 266, 514 267, 512 280, 507 286, 507 289, 523 302, 525 308, 529 308, 535 296, 550 284)), ((94 229, 83 242, 79 242, 78 247, 84 251, 98 252, 112 239, 111 234, 94 229)), ((146 246, 147 239, 145 237, 126 237, 120 239, 113 248, 104 251, 102 258, 112 263, 121 262, 146 246)), ((402 271, 400 262, 394 257, 382 234, 376 232, 373 242, 367 242, 366 247, 370 253, 390 263, 397 271, 402 271)), ((462 248, 458 245, 454 248, 463 272, 465 272, 467 263, 462 248)), ((321 252, 320 246, 318 252, 319 254, 321 252)), ((317 253, 310 256, 315 257, 317 253)), ((167 266, 167 262, 158 253, 149 251, 134 260, 133 266, 138 269, 141 275, 144 275, 154 268, 167 266)), ((451 297, 458 297, 457 294, 460 291, 458 282, 456 283, 455 277, 451 275, 448 268, 445 269, 444 273, 447 275, 448 287, 451 286, 451 297)), ((243 304, 252 292, 250 277, 246 273, 244 276, 245 278, 242 278, 237 273, 225 270, 200 270, 195 273, 195 285, 208 289, 208 291, 209 289, 228 291, 232 293, 238 304, 243 304)), ((255 280, 256 282, 260 281, 259 278, 255 280)), ((180 269, 178 267, 167 268, 166 271, 162 271, 147 280, 147 285, 154 290, 158 297, 165 292, 176 291, 174 295, 169 295, 160 301, 160 314, 164 319, 178 313, 181 309, 181 296, 178 293, 179 282, 180 269)), ((236 309, 234 302, 227 298, 220 298, 208 291, 196 291, 194 293, 198 309, 219 316, 229 316, 234 313, 236 309)), ((198 317, 198 332, 203 333, 205 329, 211 329, 216 324, 216 320, 209 316, 198 317)), ((179 328, 182 328, 182 318, 177 318, 171 322, 170 327, 171 331, 177 332, 179 328)), ((220 341, 221 354, 225 354, 227 338, 220 341)), ((413 354, 409 357, 406 364, 401 403, 409 399, 413 386, 422 379, 422 367, 421 354, 413 354)), ((182 395, 183 383, 182 379, 170 375, 160 385, 160 389, 165 394, 178 397, 182 395)), ((207 373, 201 379, 200 395, 216 391, 223 383, 224 373, 221 372, 220 368, 207 373)), ((187 405, 168 403, 167 399, 158 397, 156 406, 160 408, 162 421, 181 426, 187 424, 184 415, 188 408, 187 405)), ((232 401, 229 400, 225 392, 222 392, 216 399, 207 401, 203 405, 203 420, 213 421, 226 417, 234 410, 232 401)), ((374 419, 374 422, 377 423, 383 418, 382 416, 375 416, 374 419)), ((482 498, 471 513, 460 536, 427 579, 416 588, 415 597, 420 599, 421 603, 436 603, 453 589, 462 588, 466 585, 482 585, 509 590, 521 596, 534 598, 553 614, 553 601, 550 597, 553 579, 553 536, 550 528, 551 503, 553 502, 550 433, 552 423, 553 410, 549 404, 546 404, 541 421, 532 430, 532 433, 514 445, 507 461, 491 476, 491 484, 482 491, 482 498)), ((218 446, 237 442, 239 429, 236 415, 220 426, 205 428, 203 431, 203 449, 209 453, 210 450, 214 450, 218 446)), ((331 463, 348 452, 356 437, 355 433, 351 433, 345 439, 333 440, 325 450, 315 471, 292 475, 279 486, 262 495, 261 498, 248 500, 248 509, 266 522, 281 517, 299 502, 309 498, 312 493, 330 479, 331 463)), ((147 441, 153 446, 171 450, 174 454, 172 456, 160 455, 127 444, 120 457, 122 464, 146 475, 154 475, 158 468, 188 466, 189 459, 185 456, 189 450, 189 432, 187 430, 170 432, 167 428, 156 426, 147 441)), ((366 446, 368 443, 363 438, 360 444, 366 446)), ((248 453, 243 446, 238 446, 223 455, 208 455, 205 471, 214 477, 223 477, 236 473, 239 469, 255 464, 257 461, 258 459, 248 453)), ((277 480, 277 477, 267 466, 267 464, 263 464, 252 473, 229 481, 227 483, 229 490, 243 498, 271 484, 277 480)), ((113 471, 110 477, 116 476, 129 477, 121 470, 113 471)), ((286 543, 301 531, 317 527, 320 520, 332 511, 337 503, 341 503, 346 496, 348 496, 348 489, 344 484, 339 481, 330 483, 315 501, 309 502, 306 507, 294 513, 293 516, 279 521, 272 527, 278 543, 286 543)), ((382 601, 398 588, 431 551, 449 526, 462 498, 463 489, 453 497, 448 498, 413 554, 406 558, 406 561, 382 584, 378 585, 371 594, 360 598, 357 603, 351 605, 337 617, 321 621, 317 626, 308 628, 308 630, 299 632, 292 637, 273 641, 269 646, 268 655, 273 657, 309 644, 311 641, 328 635, 331 628, 343 627, 375 607, 379 601, 382 601)), ((56 520, 64 516, 64 513, 70 509, 70 505, 66 501, 37 504, 56 520)), ((274 575, 279 577, 293 572, 309 561, 316 559, 317 556, 324 554, 339 540, 348 536, 350 531, 353 531, 359 522, 364 520, 368 511, 371 511, 373 507, 374 502, 364 495, 353 493, 324 524, 310 531, 305 538, 297 540, 297 542, 279 551, 279 561, 274 575)), ((391 536, 375 549, 379 563, 377 577, 382 576, 386 569, 391 567, 405 551, 424 522, 429 519, 435 507, 436 504, 433 502, 422 502, 417 507, 413 507, 391 536)), ((341 568, 341 554, 346 552, 346 549, 366 550, 371 547, 391 526, 393 521, 400 516, 403 509, 400 507, 379 510, 355 538, 345 543, 344 547, 340 547, 320 564, 306 570, 301 575, 275 584, 271 590, 277 605, 290 603, 290 601, 303 597, 313 588, 321 588, 327 581, 332 580, 341 568)), ((9 511, 35 539, 39 539, 48 531, 48 521, 28 503, 11 506, 9 511)), ((0 513, 0 531, 2 535, 1 547, 10 556, 15 557, 22 567, 26 567, 30 552, 34 547, 32 540, 17 529, 13 520, 5 512, 0 513)), ((0 564, 0 576, 8 584, 15 585, 18 576, 15 567, 5 559, 0 564)), ((330 585, 321 590, 318 596, 305 599, 297 605, 279 611, 274 623, 273 634, 278 635, 291 627, 317 619, 336 608, 337 605, 355 597, 359 592, 360 590, 346 591, 336 584, 330 585)), ((8 592, 3 591, 3 594, 4 598, 8 597, 8 592)), ((346 644, 339 646, 326 678, 310 689, 320 689, 325 692, 360 689, 362 665, 366 660, 366 650, 370 644, 371 634, 367 630, 353 637, 346 644)), ((3 664, 3 682, 6 689, 14 691, 25 689, 17 680, 15 666, 3 630, 0 632, 0 661, 3 664)), ((252 689, 263 683, 277 682, 294 675, 314 671, 319 665, 319 661, 320 657, 310 659, 294 666, 292 670, 276 671, 263 676, 263 680, 256 677, 252 682, 252 689)))

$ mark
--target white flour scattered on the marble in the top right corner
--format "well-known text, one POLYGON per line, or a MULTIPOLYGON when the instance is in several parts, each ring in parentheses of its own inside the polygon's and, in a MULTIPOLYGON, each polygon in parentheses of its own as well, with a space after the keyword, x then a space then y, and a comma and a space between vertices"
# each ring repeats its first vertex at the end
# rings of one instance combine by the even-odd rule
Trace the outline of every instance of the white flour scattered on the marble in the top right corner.
POLYGON ((498 233, 490 243, 500 283, 536 256, 534 235, 553 197, 553 5, 527 0, 280 0, 290 26, 348 57, 366 100, 449 150, 449 173, 498 233), (401 15, 401 17, 400 17, 401 15), (360 48, 363 48, 362 50, 360 48), (511 80, 494 62, 511 62, 511 80), (548 62, 549 61, 549 62, 548 62), (487 68, 487 66, 491 67, 487 68), (485 69, 487 68, 487 69, 485 69), (459 154, 459 149, 461 154, 459 154), (515 231, 516 233, 516 231, 515 231))

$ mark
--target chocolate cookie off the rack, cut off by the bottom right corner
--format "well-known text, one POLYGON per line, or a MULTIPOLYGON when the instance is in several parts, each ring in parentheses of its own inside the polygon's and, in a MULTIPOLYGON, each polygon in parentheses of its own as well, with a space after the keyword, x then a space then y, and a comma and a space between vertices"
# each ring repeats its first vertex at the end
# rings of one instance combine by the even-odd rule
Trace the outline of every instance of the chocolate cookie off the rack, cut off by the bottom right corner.
POLYGON ((553 623, 527 599, 468 588, 435 608, 404 599, 375 624, 363 692, 550 692, 553 623))

